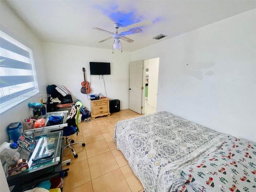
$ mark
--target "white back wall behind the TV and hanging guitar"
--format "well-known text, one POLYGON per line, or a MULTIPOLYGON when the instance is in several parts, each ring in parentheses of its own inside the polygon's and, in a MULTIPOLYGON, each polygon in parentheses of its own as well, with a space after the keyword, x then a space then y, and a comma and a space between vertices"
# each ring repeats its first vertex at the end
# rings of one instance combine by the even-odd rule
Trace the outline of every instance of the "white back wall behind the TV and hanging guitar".
MULTIPOLYGON (((111 45, 111 44, 110 44, 111 45)), ((56 43, 43 43, 44 65, 47 70, 48 84, 64 85, 70 90, 72 99, 79 99, 83 106, 90 110, 90 100, 82 94, 81 82, 84 81, 82 68, 86 69, 86 80, 90 82, 92 92, 102 93, 110 99, 119 99, 120 108, 129 108, 129 62, 130 52, 72 46, 56 43), (98 75, 90 76, 90 62, 110 62, 110 75, 104 75, 104 80, 98 75), (91 80, 90 80, 91 79, 91 80)))

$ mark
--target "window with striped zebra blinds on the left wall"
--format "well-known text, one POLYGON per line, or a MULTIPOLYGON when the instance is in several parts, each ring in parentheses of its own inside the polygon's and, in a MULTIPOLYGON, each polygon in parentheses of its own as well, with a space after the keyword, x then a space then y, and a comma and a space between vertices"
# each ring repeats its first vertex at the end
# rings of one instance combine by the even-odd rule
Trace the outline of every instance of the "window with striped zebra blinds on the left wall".
POLYGON ((0 114, 38 92, 32 50, 0 31, 0 114))

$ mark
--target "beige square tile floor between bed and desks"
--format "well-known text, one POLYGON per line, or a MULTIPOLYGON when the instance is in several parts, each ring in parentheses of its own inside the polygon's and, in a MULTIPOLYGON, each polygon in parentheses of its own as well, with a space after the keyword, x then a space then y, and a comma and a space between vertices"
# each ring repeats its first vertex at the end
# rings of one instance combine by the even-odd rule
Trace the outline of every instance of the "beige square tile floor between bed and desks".
POLYGON ((63 160, 71 159, 68 176, 64 177, 63 192, 143 192, 143 186, 132 172, 122 152, 113 141, 114 127, 119 120, 140 116, 132 110, 121 110, 80 123, 75 141, 84 141, 86 146, 74 145, 78 158, 65 149, 63 160))

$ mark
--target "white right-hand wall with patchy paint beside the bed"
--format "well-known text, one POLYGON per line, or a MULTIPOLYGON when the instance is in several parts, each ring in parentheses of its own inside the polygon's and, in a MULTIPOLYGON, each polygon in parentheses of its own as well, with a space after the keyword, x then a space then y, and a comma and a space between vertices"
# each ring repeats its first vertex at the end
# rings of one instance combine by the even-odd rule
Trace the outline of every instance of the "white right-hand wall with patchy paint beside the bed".
POLYGON ((152 57, 157 111, 256 141, 256 9, 132 53, 152 57))

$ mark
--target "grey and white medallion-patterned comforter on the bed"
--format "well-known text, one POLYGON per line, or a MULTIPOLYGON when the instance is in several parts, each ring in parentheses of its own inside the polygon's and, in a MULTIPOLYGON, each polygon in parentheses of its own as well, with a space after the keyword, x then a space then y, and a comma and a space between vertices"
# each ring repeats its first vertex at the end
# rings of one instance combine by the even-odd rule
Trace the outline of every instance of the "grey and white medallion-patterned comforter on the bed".
POLYGON ((172 192, 184 179, 180 170, 216 151, 228 136, 170 112, 119 121, 114 142, 145 192, 172 192))

